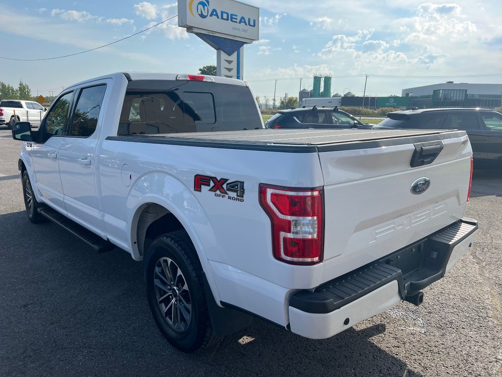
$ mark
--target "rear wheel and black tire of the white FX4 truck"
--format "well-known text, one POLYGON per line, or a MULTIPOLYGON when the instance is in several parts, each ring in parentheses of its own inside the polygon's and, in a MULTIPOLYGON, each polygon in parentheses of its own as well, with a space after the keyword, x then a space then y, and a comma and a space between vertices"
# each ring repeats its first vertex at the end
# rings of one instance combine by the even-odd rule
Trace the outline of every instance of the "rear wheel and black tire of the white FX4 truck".
POLYGON ((219 338, 207 309, 204 273, 188 234, 180 230, 157 237, 144 268, 148 304, 164 337, 183 352, 214 344, 219 338))

